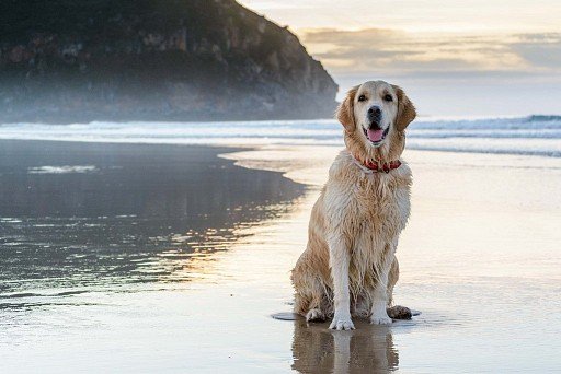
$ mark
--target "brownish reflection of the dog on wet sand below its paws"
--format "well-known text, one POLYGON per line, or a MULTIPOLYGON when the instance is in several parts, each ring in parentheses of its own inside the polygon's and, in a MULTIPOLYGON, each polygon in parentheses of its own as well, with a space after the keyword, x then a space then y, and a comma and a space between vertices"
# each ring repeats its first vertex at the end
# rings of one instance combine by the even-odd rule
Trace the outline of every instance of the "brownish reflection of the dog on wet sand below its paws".
POLYGON ((334 331, 329 324, 294 322, 293 369, 300 373, 389 373, 399 364, 389 328, 367 323, 353 331, 334 331))

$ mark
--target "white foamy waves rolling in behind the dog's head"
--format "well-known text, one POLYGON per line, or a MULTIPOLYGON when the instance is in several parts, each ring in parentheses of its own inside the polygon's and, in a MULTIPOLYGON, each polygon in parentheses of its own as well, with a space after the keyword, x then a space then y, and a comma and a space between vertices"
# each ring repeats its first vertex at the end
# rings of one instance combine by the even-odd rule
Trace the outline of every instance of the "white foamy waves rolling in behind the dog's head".
MULTIPOLYGON (((159 144, 343 145, 335 120, 231 122, 7 124, 0 139, 159 144)), ((408 149, 561 156, 561 116, 421 117, 408 129, 408 149)))

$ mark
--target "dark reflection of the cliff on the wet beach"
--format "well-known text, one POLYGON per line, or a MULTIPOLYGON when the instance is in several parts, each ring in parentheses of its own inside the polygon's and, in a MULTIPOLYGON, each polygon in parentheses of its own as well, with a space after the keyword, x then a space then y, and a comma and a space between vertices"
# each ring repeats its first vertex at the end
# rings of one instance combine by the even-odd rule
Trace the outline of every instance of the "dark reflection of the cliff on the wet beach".
POLYGON ((198 258, 306 192, 218 157, 231 150, 0 140, 0 279, 12 281, 1 296, 188 280, 209 264, 198 258))

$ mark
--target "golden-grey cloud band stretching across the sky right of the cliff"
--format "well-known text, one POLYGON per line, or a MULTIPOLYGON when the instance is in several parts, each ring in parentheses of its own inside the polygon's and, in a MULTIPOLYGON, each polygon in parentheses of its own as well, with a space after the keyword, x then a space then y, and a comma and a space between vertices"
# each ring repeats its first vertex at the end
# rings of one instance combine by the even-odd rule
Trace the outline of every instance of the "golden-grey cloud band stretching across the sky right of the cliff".
POLYGON ((461 35, 319 28, 300 35, 308 50, 333 73, 561 71, 561 33, 461 35))

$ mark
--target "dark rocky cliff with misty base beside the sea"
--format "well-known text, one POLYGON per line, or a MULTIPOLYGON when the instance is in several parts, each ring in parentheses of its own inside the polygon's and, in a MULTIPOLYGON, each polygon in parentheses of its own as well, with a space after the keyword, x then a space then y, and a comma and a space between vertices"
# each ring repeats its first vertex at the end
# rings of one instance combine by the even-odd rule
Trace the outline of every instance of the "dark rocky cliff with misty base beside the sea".
POLYGON ((336 90, 233 0, 0 3, 0 122, 321 118, 336 90))

